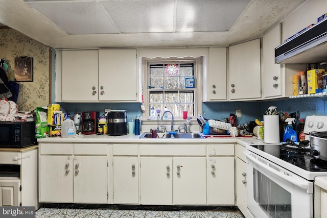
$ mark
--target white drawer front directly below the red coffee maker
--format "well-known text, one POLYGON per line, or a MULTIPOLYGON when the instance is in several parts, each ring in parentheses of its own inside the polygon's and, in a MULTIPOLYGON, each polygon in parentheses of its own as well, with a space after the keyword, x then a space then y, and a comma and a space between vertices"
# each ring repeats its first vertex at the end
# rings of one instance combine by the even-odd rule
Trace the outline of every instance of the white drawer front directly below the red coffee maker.
POLYGON ((74 144, 77 155, 107 155, 107 144, 74 144))

